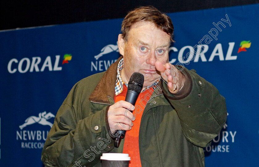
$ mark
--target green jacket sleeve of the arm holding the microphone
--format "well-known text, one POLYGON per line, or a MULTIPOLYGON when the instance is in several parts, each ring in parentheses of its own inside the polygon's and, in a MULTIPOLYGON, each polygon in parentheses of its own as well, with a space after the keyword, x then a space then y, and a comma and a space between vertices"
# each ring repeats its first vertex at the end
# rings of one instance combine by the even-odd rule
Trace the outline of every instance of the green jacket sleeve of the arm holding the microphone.
POLYGON ((108 105, 91 111, 91 103, 79 87, 72 88, 48 133, 41 155, 46 166, 94 166, 103 152, 113 148, 105 123, 108 105))

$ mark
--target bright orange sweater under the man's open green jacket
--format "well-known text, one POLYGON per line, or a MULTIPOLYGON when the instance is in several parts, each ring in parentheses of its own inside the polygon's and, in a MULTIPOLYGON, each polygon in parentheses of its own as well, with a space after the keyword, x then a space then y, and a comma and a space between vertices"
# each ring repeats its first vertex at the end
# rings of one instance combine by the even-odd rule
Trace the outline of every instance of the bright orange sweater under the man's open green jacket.
MULTIPOLYGON (((120 100, 125 100, 127 90, 128 88, 124 84, 123 91, 114 97, 114 101, 118 102, 120 100)), ((141 166, 140 156, 139 156, 139 145, 138 145, 139 127, 140 127, 140 121, 141 121, 144 108, 146 106, 147 101, 150 99, 150 96, 153 93, 153 91, 154 89, 150 88, 139 94, 135 104, 135 110, 133 111, 133 115, 136 114, 135 116, 136 119, 133 122, 134 125, 130 131, 126 132, 126 135, 124 138, 125 141, 124 141, 123 153, 129 154, 130 156, 131 161, 130 161, 129 167, 141 166), (145 96, 146 98, 144 98, 145 96), (137 105, 139 107, 136 107, 137 105)))

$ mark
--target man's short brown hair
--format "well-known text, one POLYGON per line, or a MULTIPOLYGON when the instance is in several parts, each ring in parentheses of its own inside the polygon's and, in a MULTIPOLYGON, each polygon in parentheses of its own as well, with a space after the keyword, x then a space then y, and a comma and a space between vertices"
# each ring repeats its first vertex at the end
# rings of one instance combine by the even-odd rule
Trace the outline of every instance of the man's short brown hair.
POLYGON ((170 35, 171 42, 173 40, 174 25, 169 16, 161 13, 154 6, 141 6, 130 11, 121 24, 121 34, 125 41, 128 41, 130 28, 137 22, 146 21, 154 23, 155 26, 170 35))

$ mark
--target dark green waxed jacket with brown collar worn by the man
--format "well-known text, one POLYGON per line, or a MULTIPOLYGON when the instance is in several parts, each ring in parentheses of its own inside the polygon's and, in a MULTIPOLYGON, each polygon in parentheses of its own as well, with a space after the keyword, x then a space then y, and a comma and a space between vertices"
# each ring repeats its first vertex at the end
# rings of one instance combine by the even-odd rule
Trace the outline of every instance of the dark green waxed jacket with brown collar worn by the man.
MULTIPOLYGON (((101 166, 102 153, 122 153, 124 140, 119 148, 113 146, 107 121, 120 59, 106 72, 73 86, 47 136, 41 156, 46 166, 101 166)), ((143 167, 204 166, 202 147, 226 121, 225 99, 218 90, 192 70, 185 68, 183 74, 190 81, 186 94, 171 94, 161 80, 143 111, 139 129, 143 167)))

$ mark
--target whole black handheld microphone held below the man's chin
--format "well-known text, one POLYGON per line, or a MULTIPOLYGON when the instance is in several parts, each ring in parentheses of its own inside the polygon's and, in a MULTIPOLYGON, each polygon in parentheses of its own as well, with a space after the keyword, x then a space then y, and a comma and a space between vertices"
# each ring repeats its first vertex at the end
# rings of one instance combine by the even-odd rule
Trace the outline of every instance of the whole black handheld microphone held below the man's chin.
MULTIPOLYGON (((141 73, 133 73, 130 77, 130 81, 128 83, 128 91, 126 94, 125 101, 129 102, 133 106, 136 103, 136 100, 138 98, 139 93, 141 92, 143 88, 143 83, 144 83, 144 75, 141 73)), ((132 111, 130 111, 132 112, 132 111)), ((121 143, 121 139, 124 139, 126 131, 125 130, 117 130, 115 132, 116 137, 114 140, 114 147, 119 147, 121 143)))

